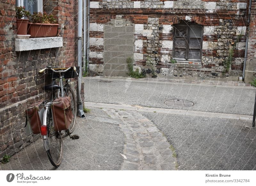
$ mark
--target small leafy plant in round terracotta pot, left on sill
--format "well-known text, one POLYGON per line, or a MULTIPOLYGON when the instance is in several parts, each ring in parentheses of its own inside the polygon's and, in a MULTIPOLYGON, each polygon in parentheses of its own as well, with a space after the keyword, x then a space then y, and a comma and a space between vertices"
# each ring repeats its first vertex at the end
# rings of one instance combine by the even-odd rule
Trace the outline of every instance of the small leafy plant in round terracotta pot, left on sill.
POLYGON ((17 35, 27 35, 28 19, 21 19, 23 17, 29 17, 30 13, 25 10, 24 6, 15 8, 16 11, 16 24, 17 24, 17 35))

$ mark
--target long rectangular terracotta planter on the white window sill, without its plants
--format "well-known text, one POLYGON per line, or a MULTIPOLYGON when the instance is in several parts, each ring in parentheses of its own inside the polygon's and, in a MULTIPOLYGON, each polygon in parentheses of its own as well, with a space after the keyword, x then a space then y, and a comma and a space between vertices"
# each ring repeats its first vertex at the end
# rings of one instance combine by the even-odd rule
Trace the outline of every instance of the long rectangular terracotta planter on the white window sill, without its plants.
POLYGON ((30 38, 54 37, 57 35, 59 24, 28 23, 30 38))

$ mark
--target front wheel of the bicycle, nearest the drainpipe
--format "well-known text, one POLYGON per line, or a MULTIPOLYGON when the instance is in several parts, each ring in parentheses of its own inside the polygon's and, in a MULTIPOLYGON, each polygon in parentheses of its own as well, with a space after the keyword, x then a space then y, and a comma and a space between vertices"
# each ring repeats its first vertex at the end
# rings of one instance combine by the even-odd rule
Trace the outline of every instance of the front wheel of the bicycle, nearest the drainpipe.
POLYGON ((72 132, 74 132, 75 130, 75 126, 76 126, 76 114, 77 114, 77 106, 76 106, 76 97, 75 97, 75 93, 74 91, 71 89, 70 86, 67 87, 67 90, 65 91, 66 96, 70 97, 71 100, 71 110, 72 113, 74 115, 74 118, 71 121, 71 124, 69 126, 69 133, 71 134, 72 132))

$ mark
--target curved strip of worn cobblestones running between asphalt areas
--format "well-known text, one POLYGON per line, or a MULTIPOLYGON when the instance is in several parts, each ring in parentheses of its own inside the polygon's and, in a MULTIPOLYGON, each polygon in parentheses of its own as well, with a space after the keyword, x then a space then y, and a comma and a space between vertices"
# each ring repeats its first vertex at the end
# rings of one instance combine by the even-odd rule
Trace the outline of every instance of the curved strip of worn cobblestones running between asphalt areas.
MULTIPOLYGON (((140 113, 103 109, 108 116, 119 119, 125 134, 124 163, 121 170, 175 170, 175 152, 166 137, 140 113), (173 157, 174 156, 174 157, 173 157)), ((176 167, 175 167, 176 165, 176 167)))

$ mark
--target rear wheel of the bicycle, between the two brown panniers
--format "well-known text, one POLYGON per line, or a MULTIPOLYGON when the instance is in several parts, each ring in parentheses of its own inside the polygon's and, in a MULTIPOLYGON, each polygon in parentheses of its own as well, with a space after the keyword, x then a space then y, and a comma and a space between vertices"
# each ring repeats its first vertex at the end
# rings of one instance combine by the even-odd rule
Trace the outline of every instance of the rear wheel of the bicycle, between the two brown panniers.
POLYGON ((59 167, 62 156, 62 138, 59 131, 55 131, 53 128, 52 109, 47 110, 47 131, 49 138, 50 149, 47 151, 48 158, 54 167, 59 167))

